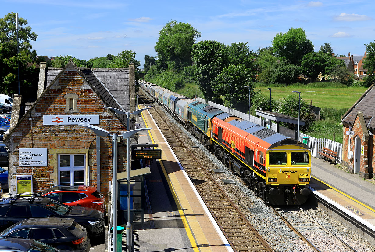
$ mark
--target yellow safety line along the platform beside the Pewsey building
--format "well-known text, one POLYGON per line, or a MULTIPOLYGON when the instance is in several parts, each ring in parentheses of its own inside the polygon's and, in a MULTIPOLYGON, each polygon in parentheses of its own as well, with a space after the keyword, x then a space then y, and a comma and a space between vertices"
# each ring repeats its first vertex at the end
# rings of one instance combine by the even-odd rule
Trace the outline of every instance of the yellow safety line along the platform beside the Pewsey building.
MULTIPOLYGON (((140 109, 139 105, 138 105, 138 108, 140 109)), ((148 128, 148 125, 147 125, 146 119, 144 118, 143 114, 141 114, 141 115, 142 115, 142 119, 143 119, 143 122, 144 122, 144 124, 145 124, 145 127, 148 128)), ((156 122, 155 122, 155 123, 156 123, 156 122)), ((154 138, 152 137, 152 133, 151 133, 151 131, 150 131, 150 130, 147 130, 147 131, 148 131, 148 134, 149 134, 149 136, 150 136, 150 138, 151 138, 151 142, 154 144, 155 142, 154 142, 154 138)), ((164 174, 165 178, 168 178, 168 174, 167 174, 166 171, 165 171, 165 167, 164 167, 164 165, 163 165, 162 160, 159 159, 158 161, 159 161, 159 163, 160 163, 160 166, 162 167, 163 174, 164 174)), ((184 228, 185 228, 185 231, 186 231, 187 237, 188 237, 189 240, 190 240, 190 243, 191 243, 191 245, 192 245, 192 248, 193 248, 193 250, 194 250, 195 252, 199 252, 198 244, 196 244, 196 241, 195 241, 195 239, 194 239, 194 236, 193 236, 193 234, 192 234, 192 231, 190 230, 190 226, 189 226, 189 224, 187 223, 187 219, 186 219, 186 217, 184 216, 184 212, 182 211, 182 209, 181 209, 181 207, 180 207, 180 203, 178 202, 177 195, 176 195, 176 193, 175 193, 175 191, 174 191, 174 188, 172 187, 171 181, 169 181, 168 179, 167 179, 166 181, 167 181, 167 183, 168 183, 169 189, 170 189, 171 192, 172 192, 172 196, 173 196, 174 202, 175 202, 175 204, 176 204, 176 206, 177 206, 177 208, 178 208, 178 213, 180 214, 180 217, 181 217, 182 223, 183 223, 183 225, 184 225, 184 228), (195 246, 194 246, 193 244, 195 244, 195 246)))

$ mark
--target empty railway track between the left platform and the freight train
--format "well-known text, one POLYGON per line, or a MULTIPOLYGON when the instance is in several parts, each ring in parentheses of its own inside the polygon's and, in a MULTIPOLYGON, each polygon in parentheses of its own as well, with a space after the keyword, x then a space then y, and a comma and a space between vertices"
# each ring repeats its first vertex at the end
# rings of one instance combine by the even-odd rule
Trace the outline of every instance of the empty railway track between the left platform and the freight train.
MULTIPOLYGON (((143 91, 141 91, 144 94, 143 91)), ((147 95, 139 97, 145 103, 152 104, 153 101, 147 95)), ((210 210, 220 229, 231 244, 234 251, 259 251, 272 252, 271 247, 263 240, 261 235, 248 222, 246 217, 229 199, 219 184, 214 181, 208 171, 195 158, 190 151, 191 146, 186 146, 177 133, 170 127, 170 121, 165 119, 164 112, 159 106, 152 106, 149 110, 163 132, 169 145, 175 152, 181 165, 192 180, 194 186, 201 195, 203 201, 210 210)))

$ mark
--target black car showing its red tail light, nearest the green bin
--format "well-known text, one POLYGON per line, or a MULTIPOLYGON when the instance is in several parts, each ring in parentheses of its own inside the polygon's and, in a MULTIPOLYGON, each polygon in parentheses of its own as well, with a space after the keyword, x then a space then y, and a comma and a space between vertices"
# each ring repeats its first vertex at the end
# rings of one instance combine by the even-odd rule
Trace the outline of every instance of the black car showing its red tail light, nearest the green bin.
POLYGON ((66 218, 32 218, 21 220, 0 233, 1 237, 17 236, 34 239, 57 249, 77 252, 90 250, 86 228, 66 218))

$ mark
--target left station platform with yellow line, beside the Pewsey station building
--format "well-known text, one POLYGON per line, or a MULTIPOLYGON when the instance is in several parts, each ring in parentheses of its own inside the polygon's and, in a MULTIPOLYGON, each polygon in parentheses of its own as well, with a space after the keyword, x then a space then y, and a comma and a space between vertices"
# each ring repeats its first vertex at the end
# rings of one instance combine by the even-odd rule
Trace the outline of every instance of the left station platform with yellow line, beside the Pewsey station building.
POLYGON ((143 229, 133 229, 133 251, 233 251, 151 114, 143 112, 139 123, 152 130, 138 143, 158 144, 162 158, 145 177, 151 213, 145 211, 143 229))

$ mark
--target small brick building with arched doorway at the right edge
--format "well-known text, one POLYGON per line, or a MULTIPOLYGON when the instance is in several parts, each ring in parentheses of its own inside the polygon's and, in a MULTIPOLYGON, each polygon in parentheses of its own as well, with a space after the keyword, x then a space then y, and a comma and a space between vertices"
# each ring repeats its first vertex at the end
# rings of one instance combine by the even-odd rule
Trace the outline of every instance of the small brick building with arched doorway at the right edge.
POLYGON ((342 164, 361 178, 374 177, 375 84, 342 116, 342 164), (354 131, 354 135, 347 135, 354 131))

